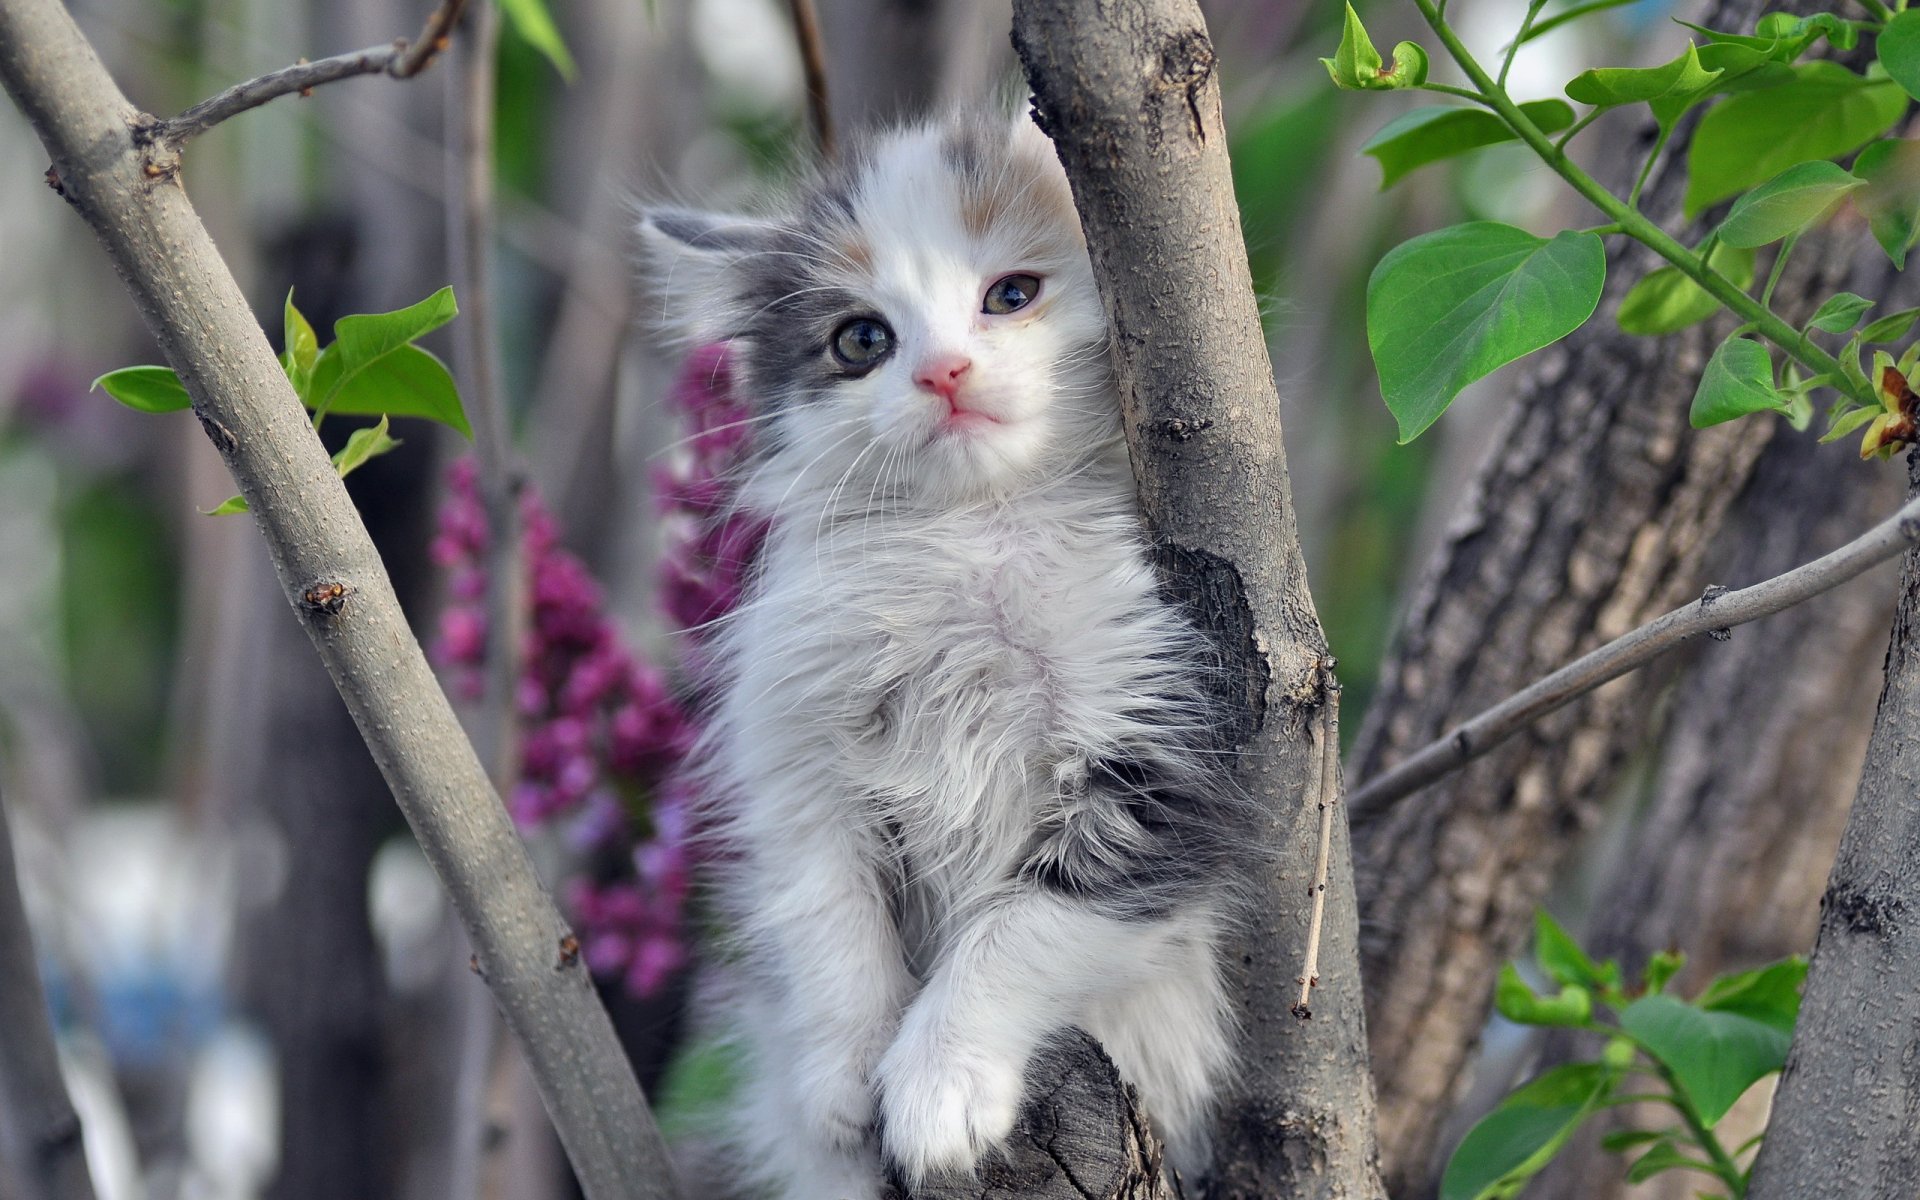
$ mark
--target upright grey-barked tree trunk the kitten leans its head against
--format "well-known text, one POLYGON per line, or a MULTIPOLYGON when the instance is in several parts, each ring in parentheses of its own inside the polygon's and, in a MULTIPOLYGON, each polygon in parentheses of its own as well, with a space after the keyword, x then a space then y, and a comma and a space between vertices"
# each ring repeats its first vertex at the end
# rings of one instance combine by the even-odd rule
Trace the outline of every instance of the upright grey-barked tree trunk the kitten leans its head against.
POLYGON ((1021 0, 1014 48, 1092 250, 1162 574, 1217 647, 1235 714, 1227 743, 1269 812, 1258 918, 1227 945, 1246 1041, 1210 1194, 1377 1196, 1344 826, 1313 1020, 1288 1012, 1319 839, 1304 793, 1325 637, 1300 559, 1213 46, 1192 0, 1021 0))

